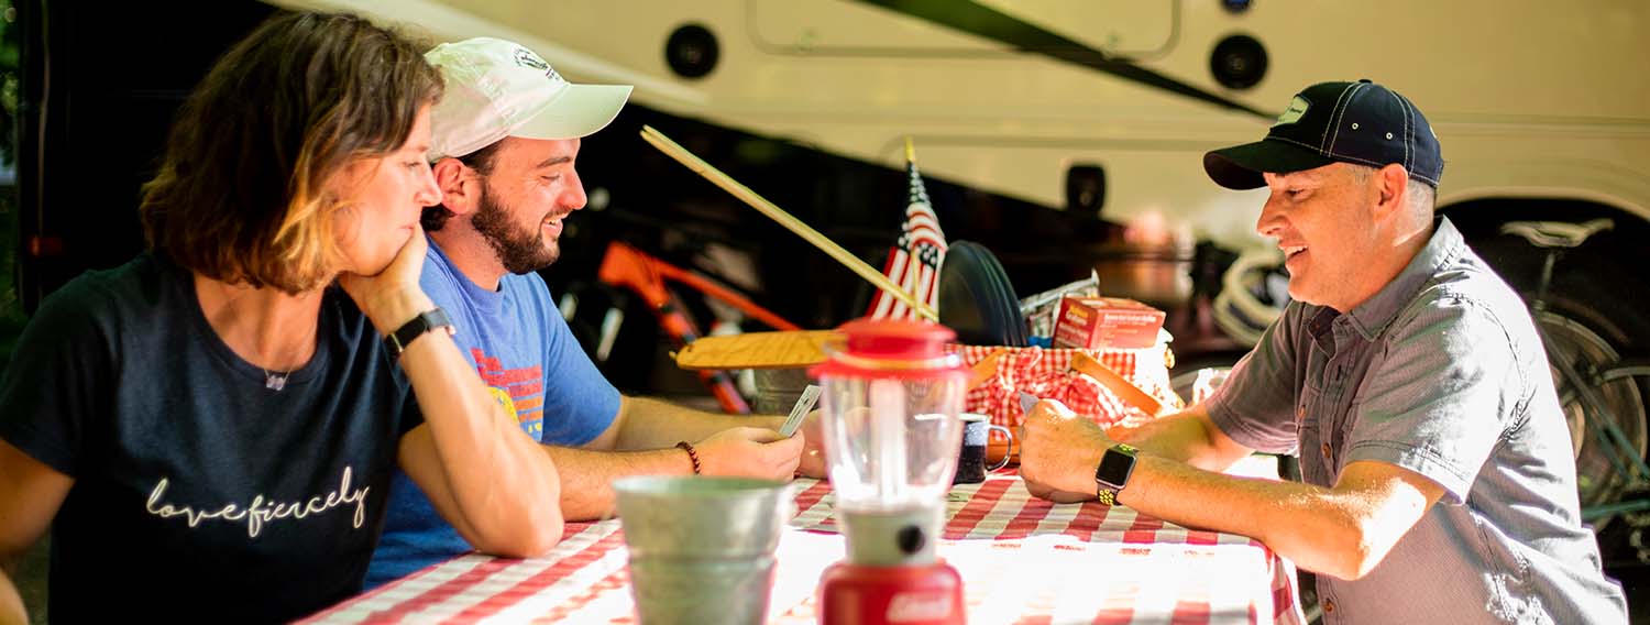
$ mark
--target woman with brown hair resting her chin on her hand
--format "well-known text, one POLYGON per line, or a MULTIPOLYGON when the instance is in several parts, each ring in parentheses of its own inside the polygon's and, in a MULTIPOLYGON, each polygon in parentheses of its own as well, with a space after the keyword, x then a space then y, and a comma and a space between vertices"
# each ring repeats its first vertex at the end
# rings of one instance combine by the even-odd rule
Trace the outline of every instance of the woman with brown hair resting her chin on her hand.
POLYGON ((393 31, 285 13, 191 94, 144 188, 148 252, 53 294, 0 381, 0 564, 51 524, 53 618, 342 600, 398 465, 482 551, 561 538, 549 457, 419 290, 441 89, 393 31))

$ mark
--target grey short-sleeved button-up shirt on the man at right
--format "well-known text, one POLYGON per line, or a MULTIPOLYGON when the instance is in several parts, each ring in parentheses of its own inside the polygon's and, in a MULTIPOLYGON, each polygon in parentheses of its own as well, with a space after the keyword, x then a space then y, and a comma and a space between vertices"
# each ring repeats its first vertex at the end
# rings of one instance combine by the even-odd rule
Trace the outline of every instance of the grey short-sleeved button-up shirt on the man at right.
POLYGON ((1368 576, 1318 576, 1325 622, 1627 622, 1530 313, 1449 219, 1351 312, 1290 303, 1206 406, 1308 483, 1374 460, 1444 486, 1368 576))

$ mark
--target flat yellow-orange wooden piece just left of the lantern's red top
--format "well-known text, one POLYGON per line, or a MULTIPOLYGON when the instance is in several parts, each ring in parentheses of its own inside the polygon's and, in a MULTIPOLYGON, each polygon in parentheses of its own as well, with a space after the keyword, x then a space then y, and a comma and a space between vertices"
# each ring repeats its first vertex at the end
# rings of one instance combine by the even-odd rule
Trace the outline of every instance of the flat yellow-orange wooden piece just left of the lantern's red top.
POLYGON ((840 343, 837 330, 747 331, 703 336, 676 351, 683 369, 784 369, 825 361, 825 343, 840 343))

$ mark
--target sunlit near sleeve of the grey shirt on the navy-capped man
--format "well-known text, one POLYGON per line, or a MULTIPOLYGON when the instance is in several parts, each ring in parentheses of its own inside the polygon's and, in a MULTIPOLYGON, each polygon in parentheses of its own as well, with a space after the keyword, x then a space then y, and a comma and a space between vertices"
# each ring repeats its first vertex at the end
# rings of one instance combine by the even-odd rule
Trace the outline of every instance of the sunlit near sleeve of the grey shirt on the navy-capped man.
POLYGON ((1462 503, 1526 381, 1493 313, 1444 292, 1394 322, 1351 411, 1346 462, 1378 460, 1437 482, 1462 503))

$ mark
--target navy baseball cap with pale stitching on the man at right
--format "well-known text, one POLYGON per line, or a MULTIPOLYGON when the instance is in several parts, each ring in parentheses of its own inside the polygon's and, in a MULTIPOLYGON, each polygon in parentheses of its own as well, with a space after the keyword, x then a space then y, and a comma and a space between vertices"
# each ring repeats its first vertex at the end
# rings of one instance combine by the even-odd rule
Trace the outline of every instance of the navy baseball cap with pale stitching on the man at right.
POLYGON ((1444 155, 1421 109, 1396 91, 1370 82, 1318 82, 1289 101, 1266 139, 1203 155, 1216 185, 1266 186, 1262 172, 1290 173, 1343 162, 1368 167, 1399 163, 1411 178, 1434 188, 1444 155))

